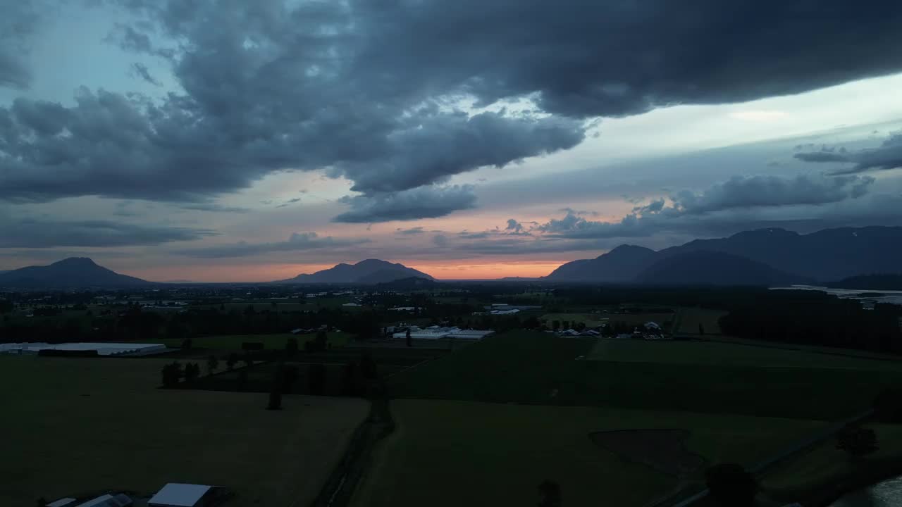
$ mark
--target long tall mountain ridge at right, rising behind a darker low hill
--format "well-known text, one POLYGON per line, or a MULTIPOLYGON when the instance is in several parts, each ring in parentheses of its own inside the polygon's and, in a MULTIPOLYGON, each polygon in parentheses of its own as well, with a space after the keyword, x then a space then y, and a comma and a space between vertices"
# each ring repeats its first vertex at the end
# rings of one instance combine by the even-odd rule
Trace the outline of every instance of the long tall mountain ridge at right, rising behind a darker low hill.
MULTIPOLYGON (((714 252, 744 258, 769 267, 768 280, 838 281, 866 272, 902 272, 902 227, 870 226, 824 229, 800 235, 780 228, 744 231, 717 239, 696 239, 658 252, 641 246, 622 244, 594 259, 565 263, 548 274, 547 281, 607 283, 653 283, 647 270, 670 257, 686 253, 714 252), (778 273, 782 273, 779 274, 778 273)), ((732 263, 719 257, 723 276, 732 263)), ((685 261, 686 267, 692 263, 685 261)), ((745 266, 752 269, 750 264, 745 266)), ((663 275, 659 269, 654 269, 663 275)), ((710 278, 710 277, 709 277, 710 278)), ((741 273, 730 276, 741 280, 741 273)), ((711 280, 715 282, 715 280, 711 280)), ((779 283, 782 284, 782 283, 779 283)))

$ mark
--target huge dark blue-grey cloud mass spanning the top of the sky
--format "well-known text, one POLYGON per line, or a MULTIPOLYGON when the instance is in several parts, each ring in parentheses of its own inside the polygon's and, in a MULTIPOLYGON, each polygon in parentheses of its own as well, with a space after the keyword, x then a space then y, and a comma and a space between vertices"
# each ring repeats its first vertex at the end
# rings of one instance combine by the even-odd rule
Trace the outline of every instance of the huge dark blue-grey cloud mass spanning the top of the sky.
POLYGON ((566 150, 584 118, 902 69, 897 2, 122 4, 152 34, 123 26, 115 43, 161 54, 154 44, 171 42, 180 90, 160 102, 82 91, 63 115, 28 101, 52 115, 37 122, 0 110, 0 198, 202 200, 272 171, 328 168, 376 202, 566 150), (539 114, 456 110, 461 97, 528 96, 539 114))

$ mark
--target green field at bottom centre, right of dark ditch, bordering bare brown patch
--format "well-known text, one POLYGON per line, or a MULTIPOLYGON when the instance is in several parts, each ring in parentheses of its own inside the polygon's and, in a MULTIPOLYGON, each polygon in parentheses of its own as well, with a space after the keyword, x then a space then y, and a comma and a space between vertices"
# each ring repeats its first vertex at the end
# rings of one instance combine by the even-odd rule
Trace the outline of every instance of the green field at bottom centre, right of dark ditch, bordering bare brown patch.
MULTIPOLYGON (((612 429, 689 429, 708 462, 754 463, 818 421, 466 401, 392 401, 398 429, 378 449, 355 506, 529 505, 545 479, 566 505, 643 505, 677 478, 595 445, 612 429)), ((699 477, 700 478, 700 475, 699 477)))

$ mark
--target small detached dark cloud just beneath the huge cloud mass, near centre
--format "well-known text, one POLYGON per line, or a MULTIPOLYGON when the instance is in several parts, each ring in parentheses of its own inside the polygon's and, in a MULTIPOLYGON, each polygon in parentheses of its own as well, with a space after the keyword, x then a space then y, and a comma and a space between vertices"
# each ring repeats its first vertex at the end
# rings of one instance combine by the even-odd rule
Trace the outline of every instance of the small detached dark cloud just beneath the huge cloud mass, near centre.
POLYGON ((420 187, 373 196, 346 196, 340 201, 350 205, 351 210, 335 217, 334 221, 368 224, 444 217, 459 209, 474 207, 476 196, 473 187, 455 185, 420 187))

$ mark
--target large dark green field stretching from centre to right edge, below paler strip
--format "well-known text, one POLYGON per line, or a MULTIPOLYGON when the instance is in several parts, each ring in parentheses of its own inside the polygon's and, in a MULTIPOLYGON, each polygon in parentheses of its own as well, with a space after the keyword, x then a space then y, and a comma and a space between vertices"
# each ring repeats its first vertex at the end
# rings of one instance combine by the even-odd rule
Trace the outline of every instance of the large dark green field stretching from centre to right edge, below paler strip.
POLYGON ((595 342, 523 331, 491 336, 400 373, 389 387, 400 398, 832 420, 870 407, 881 389, 902 383, 902 371, 891 363, 821 367, 820 356, 812 367, 576 360, 590 355, 595 342))

